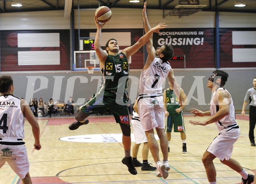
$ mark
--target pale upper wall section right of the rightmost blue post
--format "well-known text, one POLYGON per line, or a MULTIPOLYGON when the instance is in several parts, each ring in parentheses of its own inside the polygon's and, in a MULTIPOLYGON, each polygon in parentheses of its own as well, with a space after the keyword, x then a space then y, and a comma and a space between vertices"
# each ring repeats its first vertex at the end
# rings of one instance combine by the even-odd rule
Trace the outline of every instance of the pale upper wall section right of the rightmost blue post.
POLYGON ((220 12, 219 20, 220 28, 256 27, 256 14, 220 12))

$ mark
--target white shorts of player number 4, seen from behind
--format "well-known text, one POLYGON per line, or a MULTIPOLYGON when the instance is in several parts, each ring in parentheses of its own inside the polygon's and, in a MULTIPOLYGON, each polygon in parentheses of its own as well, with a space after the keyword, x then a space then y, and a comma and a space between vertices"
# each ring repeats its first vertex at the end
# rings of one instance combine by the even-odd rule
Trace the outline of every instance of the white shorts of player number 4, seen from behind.
POLYGON ((29 172, 29 160, 25 145, 0 144, 0 168, 6 162, 21 179, 24 179, 29 172))

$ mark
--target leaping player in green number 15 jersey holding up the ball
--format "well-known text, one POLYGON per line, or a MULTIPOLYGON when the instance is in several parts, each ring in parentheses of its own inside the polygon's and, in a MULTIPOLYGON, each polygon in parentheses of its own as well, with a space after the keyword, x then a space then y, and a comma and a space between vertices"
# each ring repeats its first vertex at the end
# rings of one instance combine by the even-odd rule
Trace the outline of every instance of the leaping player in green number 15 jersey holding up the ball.
POLYGON ((119 46, 116 39, 109 39, 106 43, 106 52, 101 49, 101 30, 104 24, 99 24, 95 18, 97 32, 95 37, 95 51, 100 61, 100 70, 102 72, 102 83, 99 91, 88 103, 81 107, 81 111, 76 115, 76 122, 70 124, 70 130, 76 130, 83 124, 88 124, 86 119, 90 114, 109 109, 116 120, 120 124, 122 130, 122 143, 124 145, 125 157, 122 163, 127 165, 131 174, 136 175, 137 171, 132 164, 131 157, 131 127, 129 120, 129 111, 127 107, 128 75, 129 75, 129 58, 135 54, 140 47, 149 41, 153 32, 159 32, 160 29, 166 28, 165 23, 160 23, 156 27, 151 28, 138 42, 125 48, 119 53, 119 46))

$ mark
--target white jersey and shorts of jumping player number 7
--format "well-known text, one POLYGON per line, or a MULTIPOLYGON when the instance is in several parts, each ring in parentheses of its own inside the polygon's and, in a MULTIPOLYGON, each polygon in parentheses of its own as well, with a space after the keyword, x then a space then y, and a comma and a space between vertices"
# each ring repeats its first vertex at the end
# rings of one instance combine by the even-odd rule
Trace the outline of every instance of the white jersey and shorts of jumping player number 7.
POLYGON ((139 81, 139 117, 145 131, 164 129, 162 85, 171 70, 169 62, 155 57, 149 68, 142 71, 139 81))

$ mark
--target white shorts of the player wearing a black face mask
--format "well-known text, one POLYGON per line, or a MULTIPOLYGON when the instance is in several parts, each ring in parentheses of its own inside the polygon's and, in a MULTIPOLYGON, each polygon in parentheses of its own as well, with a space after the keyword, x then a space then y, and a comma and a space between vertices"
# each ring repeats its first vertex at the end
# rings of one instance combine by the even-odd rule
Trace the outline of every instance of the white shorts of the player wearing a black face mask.
POLYGON ((235 141, 238 140, 240 129, 231 129, 227 132, 220 133, 207 148, 207 151, 212 153, 220 160, 229 160, 233 152, 235 141))

